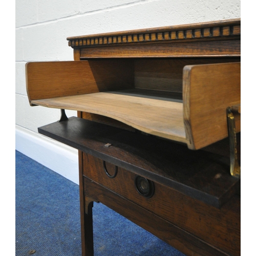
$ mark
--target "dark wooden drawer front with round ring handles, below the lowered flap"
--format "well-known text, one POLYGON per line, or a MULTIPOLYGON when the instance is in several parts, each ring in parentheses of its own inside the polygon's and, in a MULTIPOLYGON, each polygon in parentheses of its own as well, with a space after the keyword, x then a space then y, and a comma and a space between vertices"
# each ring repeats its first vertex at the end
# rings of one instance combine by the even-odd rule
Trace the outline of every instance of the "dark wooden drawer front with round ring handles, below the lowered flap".
MULTIPOLYGON (((110 176, 114 175, 113 164, 106 163, 106 169, 110 176)), ((83 175, 209 244, 233 255, 240 251, 240 198, 237 196, 217 209, 154 182, 154 195, 144 197, 136 189, 136 174, 118 167, 116 177, 110 178, 104 171, 103 161, 87 154, 83 154, 83 175)))

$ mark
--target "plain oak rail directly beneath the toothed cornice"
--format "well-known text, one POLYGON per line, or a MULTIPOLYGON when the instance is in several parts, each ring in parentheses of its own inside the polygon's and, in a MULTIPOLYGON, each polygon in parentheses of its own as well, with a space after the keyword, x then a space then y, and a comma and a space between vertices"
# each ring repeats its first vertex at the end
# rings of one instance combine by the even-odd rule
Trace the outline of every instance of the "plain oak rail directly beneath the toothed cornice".
MULTIPOLYGON (((178 41, 162 42, 154 45, 147 42, 131 43, 131 45, 107 45, 107 47, 88 47, 81 48, 81 59, 88 58, 159 58, 159 57, 221 57, 234 56, 239 57, 240 42, 237 40, 223 40, 223 41, 204 41, 203 38, 198 38, 199 41, 178 41)), ((156 42, 155 42, 156 43, 156 42)))

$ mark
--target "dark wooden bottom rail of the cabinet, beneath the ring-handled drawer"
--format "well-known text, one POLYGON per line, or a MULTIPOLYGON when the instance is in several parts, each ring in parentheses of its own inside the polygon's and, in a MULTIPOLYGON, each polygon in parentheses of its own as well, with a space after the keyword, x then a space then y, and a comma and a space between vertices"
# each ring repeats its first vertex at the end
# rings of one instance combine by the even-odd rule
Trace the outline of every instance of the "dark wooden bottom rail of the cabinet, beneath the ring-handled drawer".
POLYGON ((193 234, 126 200, 89 178, 83 177, 83 185, 86 206, 92 201, 101 202, 187 256, 227 256, 225 252, 212 247, 193 234))

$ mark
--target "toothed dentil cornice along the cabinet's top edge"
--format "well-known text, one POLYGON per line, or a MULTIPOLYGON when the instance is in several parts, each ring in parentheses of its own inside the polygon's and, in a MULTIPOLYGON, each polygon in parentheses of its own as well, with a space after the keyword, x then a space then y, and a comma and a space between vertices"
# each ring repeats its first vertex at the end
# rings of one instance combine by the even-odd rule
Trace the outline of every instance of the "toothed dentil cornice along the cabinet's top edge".
POLYGON ((72 48, 84 48, 138 42, 178 42, 184 39, 228 39, 230 37, 240 37, 240 35, 241 19, 229 19, 218 22, 68 37, 67 40, 69 40, 69 46, 72 48))

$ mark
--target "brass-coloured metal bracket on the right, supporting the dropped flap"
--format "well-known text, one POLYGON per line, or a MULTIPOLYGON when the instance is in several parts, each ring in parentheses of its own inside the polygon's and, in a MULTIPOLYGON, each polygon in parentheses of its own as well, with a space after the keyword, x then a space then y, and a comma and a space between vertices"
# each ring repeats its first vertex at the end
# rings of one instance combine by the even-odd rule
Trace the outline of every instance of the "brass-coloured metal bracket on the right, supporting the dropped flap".
POLYGON ((235 177, 240 177, 241 166, 238 162, 236 122, 234 120, 233 112, 241 113, 240 106, 227 108, 227 126, 230 150, 230 174, 235 177))

